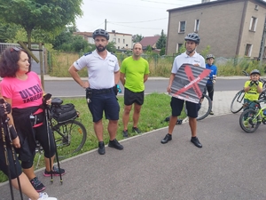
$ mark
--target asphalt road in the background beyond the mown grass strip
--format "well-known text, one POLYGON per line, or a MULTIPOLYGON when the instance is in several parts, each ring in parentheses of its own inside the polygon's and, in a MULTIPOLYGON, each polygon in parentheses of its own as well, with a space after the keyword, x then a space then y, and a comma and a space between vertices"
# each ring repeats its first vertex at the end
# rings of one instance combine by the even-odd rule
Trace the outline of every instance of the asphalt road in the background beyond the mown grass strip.
MULTIPOLYGON (((215 91, 239 91, 243 88, 247 79, 218 79, 215 91)), ((123 86, 120 84, 121 90, 123 86)), ((168 79, 150 79, 145 83, 145 93, 166 92, 168 79)), ((50 92, 53 97, 85 96, 85 90, 74 80, 45 80, 45 92, 50 92)))

